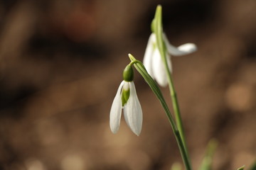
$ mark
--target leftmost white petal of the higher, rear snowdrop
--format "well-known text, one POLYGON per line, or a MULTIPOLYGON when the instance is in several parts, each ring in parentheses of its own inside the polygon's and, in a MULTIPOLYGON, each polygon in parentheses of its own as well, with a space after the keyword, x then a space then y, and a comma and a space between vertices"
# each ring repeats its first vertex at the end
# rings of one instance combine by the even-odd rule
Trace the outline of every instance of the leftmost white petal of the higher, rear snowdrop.
POLYGON ((154 52, 154 43, 156 42, 156 35, 154 33, 151 33, 149 37, 149 41, 146 45, 146 51, 143 58, 143 64, 146 67, 146 71, 149 73, 149 75, 152 77, 152 56, 154 52))

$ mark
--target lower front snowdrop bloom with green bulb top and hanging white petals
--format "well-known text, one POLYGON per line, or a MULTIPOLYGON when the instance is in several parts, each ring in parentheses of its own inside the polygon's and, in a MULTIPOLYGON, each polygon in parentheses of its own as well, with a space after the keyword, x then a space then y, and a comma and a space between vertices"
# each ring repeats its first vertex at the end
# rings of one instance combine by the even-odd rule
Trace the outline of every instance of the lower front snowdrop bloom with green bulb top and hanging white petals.
POLYGON ((119 130, 123 109, 124 120, 132 132, 139 136, 142 130, 142 107, 134 86, 132 66, 127 65, 123 77, 124 81, 119 85, 110 110, 110 129, 113 133, 119 130))

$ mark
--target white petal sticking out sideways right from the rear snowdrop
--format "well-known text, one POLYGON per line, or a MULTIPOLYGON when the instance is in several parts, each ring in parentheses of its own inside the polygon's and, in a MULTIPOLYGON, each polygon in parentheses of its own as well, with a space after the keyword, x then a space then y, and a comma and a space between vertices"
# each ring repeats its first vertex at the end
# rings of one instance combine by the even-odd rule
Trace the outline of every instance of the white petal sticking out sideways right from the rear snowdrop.
POLYGON ((166 38, 166 35, 163 34, 164 42, 166 44, 166 48, 169 52, 169 54, 174 56, 181 56, 181 55, 188 55, 192 52, 195 52, 197 50, 197 47, 193 43, 186 43, 184 45, 174 47, 174 45, 171 45, 169 40, 166 38))

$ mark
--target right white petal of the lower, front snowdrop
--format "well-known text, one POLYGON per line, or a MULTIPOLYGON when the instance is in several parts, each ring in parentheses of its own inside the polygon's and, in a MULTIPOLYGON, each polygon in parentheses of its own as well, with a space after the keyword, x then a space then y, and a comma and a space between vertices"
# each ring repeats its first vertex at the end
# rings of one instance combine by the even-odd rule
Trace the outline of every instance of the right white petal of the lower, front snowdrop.
POLYGON ((129 87, 130 96, 124 106, 124 119, 132 132, 139 136, 142 131, 142 106, 139 103, 133 81, 129 82, 129 87))

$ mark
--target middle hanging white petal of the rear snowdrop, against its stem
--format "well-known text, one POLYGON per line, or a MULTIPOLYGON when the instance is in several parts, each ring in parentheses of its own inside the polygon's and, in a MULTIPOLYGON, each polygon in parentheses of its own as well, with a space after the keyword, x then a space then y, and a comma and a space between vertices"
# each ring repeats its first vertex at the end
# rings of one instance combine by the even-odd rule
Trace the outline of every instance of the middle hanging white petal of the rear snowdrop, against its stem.
MULTIPOLYGON (((166 55, 169 58, 169 55, 166 55)), ((167 62, 171 65, 170 59, 167 62)), ((161 55, 158 49, 154 51, 153 56, 153 74, 154 79, 160 86, 166 86, 168 84, 167 75, 164 67, 164 62, 161 59, 161 55)))

